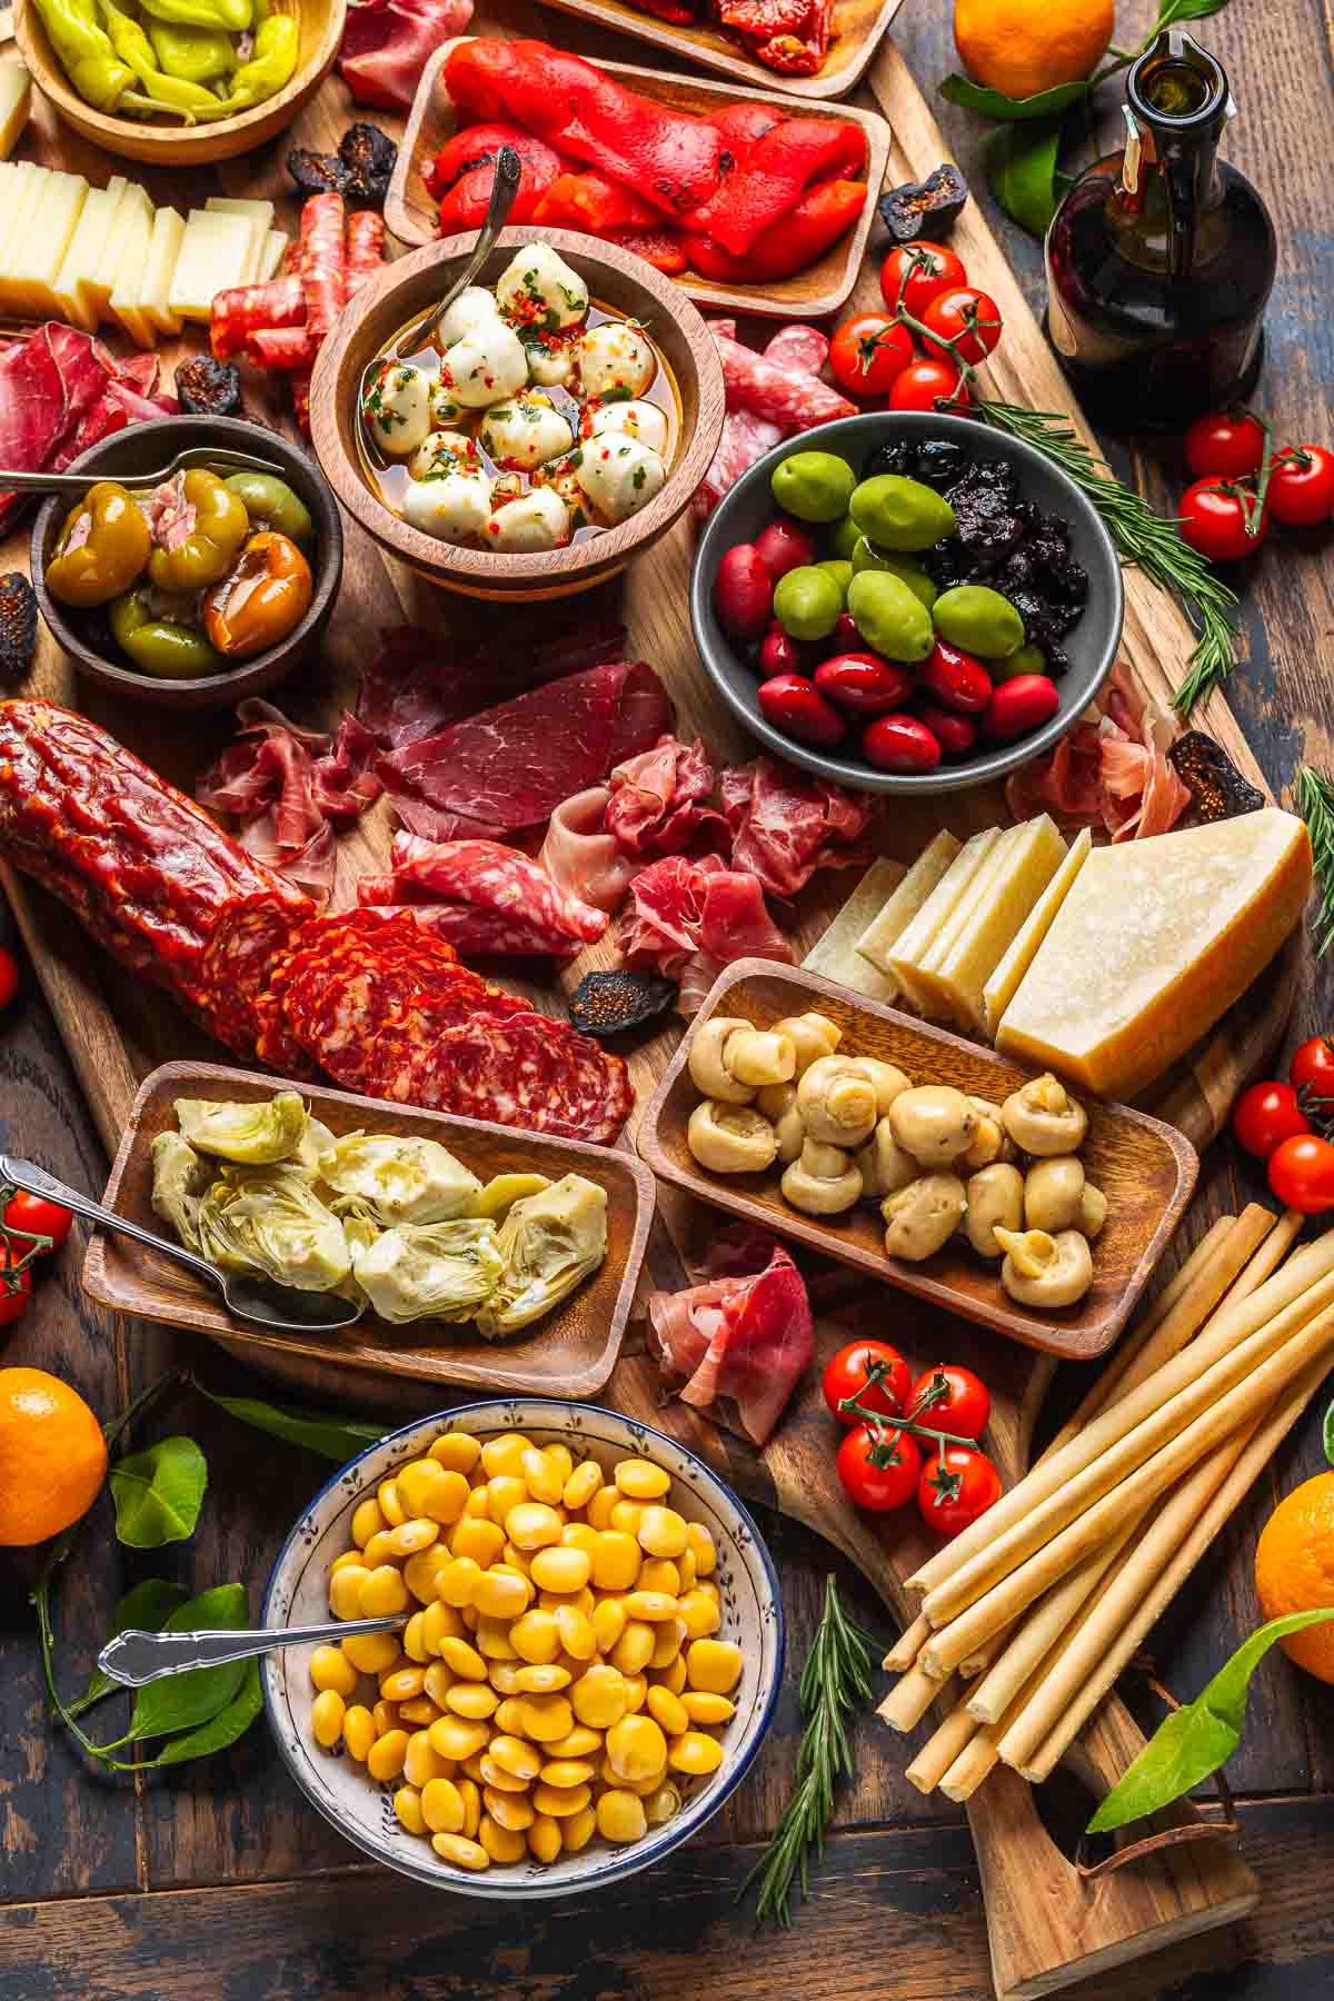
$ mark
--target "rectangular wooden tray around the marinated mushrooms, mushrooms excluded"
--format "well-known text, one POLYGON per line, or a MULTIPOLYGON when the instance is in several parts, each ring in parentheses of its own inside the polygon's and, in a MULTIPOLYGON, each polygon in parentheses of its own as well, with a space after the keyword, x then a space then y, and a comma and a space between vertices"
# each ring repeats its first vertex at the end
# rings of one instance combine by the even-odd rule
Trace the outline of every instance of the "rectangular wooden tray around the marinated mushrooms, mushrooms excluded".
POLYGON ((818 1009, 842 1029, 842 1049, 848 1055, 896 1063, 914 1085, 956 1085, 1000 1105, 1032 1075, 990 1049, 964 1043, 962 1037, 896 1009, 854 1000, 846 986, 802 966, 738 958, 714 982, 640 1123, 638 1149, 654 1175, 718 1209, 794 1237, 824 1257, 874 1273, 902 1293, 930 1299, 966 1321, 1008 1335, 1010 1341, 1070 1361, 1102 1355, 1126 1325, 1186 1211, 1200 1171, 1200 1157, 1190 1141, 1160 1119, 1126 1105, 1084 1101, 1088 1135, 1080 1159, 1088 1179, 1108 1199, 1108 1219, 1092 1247, 1094 1283, 1074 1307, 1036 1313, 1016 1305, 1000 1287, 1000 1267, 984 1265, 960 1237, 922 1265, 908 1265, 884 1255, 884 1225, 872 1203, 860 1203, 842 1217, 806 1217, 782 1199, 774 1171, 710 1175, 696 1163, 686 1145, 686 1121, 700 1103, 700 1093, 686 1065, 700 1027, 710 1015, 738 1015, 768 1029, 784 1015, 800 1015, 804 1009, 818 1009))

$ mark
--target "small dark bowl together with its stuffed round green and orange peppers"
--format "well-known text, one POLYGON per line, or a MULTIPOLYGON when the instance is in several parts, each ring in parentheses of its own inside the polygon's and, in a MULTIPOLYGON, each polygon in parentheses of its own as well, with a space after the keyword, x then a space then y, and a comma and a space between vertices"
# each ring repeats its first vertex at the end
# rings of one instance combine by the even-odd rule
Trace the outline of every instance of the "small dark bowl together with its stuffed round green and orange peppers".
POLYGON ((176 476, 176 504, 164 496, 146 522, 112 498, 74 532, 86 502, 54 494, 32 524, 32 582, 56 642, 80 674, 160 708, 216 708, 272 688, 318 642, 342 582, 342 522, 324 474, 260 424, 154 418, 94 444, 70 472, 142 496, 144 474, 210 448, 278 470, 196 468, 176 476))

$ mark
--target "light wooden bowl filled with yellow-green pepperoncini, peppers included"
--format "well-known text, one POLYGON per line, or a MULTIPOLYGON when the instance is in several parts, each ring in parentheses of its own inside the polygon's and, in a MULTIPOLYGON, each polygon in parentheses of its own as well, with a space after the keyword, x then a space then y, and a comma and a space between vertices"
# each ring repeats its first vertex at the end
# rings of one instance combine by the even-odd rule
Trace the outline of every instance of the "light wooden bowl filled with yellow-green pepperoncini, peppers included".
MULTIPOLYGON (((122 14, 122 32, 136 34, 138 22, 124 16, 122 0, 116 0, 116 12, 122 14)), ((50 98, 60 118, 82 138, 92 140, 94 146, 102 146, 124 160, 146 160, 150 166, 204 166, 214 160, 234 160, 242 152, 252 152, 294 122, 334 66, 348 0, 270 0, 268 8, 252 4, 252 0, 186 0, 184 6, 166 6, 166 14, 172 16, 172 22, 182 24, 186 32, 208 28, 212 22, 218 32, 232 34, 234 40, 240 32, 232 26, 236 20, 248 16, 258 34, 266 24, 266 16, 286 16, 296 22, 296 68, 286 82, 272 88, 268 78, 282 76, 290 56, 284 60, 280 48, 274 48, 270 56, 266 40, 258 40, 248 62, 238 64, 230 80, 224 82, 224 102, 226 94, 252 98, 248 108, 234 112, 230 118, 206 116, 190 124, 184 116, 156 112, 132 116, 128 112, 98 110, 86 96, 80 96, 56 42, 62 42, 66 52, 106 42, 104 16, 88 0, 42 0, 42 8, 38 8, 36 0, 14 0, 14 40, 38 90, 50 98), (184 16, 188 16, 188 22, 184 16), (92 36, 88 30, 92 30, 92 36), (236 88, 238 80, 240 88, 236 88)), ((270 30, 268 40, 282 44, 290 38, 290 32, 284 24, 278 30, 270 30)), ((150 54, 162 70, 168 68, 168 62, 156 50, 150 50, 150 54)), ((118 60, 112 50, 108 66, 116 68, 118 60)), ((120 68, 124 66, 120 64, 120 68)), ((172 68, 178 70, 172 78, 172 100, 184 104, 196 102, 196 90, 206 86, 190 80, 186 74, 188 64, 172 62, 172 68)), ((96 54, 80 66, 80 80, 88 84, 90 96, 118 102, 112 96, 116 84, 100 76, 96 54)), ((136 76, 132 82, 134 90, 126 94, 148 102, 152 92, 144 86, 144 78, 136 76)))

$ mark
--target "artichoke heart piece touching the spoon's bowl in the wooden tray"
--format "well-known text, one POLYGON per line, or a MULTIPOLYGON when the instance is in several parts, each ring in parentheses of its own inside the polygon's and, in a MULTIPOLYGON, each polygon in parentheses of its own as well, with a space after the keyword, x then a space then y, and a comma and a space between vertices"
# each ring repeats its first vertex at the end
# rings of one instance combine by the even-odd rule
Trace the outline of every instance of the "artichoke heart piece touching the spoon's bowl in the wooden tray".
POLYGON ((198 1231, 222 1271, 260 1271, 302 1293, 332 1293, 352 1271, 342 1223, 300 1167, 226 1169, 200 1205, 198 1231))

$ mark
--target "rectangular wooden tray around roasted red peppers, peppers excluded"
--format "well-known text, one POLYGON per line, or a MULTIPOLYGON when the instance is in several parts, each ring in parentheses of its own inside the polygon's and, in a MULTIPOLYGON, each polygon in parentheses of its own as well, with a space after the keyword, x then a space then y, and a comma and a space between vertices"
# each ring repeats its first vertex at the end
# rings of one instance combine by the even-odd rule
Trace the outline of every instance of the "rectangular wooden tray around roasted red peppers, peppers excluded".
MULTIPOLYGON (((488 36, 512 40, 522 32, 522 28, 486 22, 488 36)), ((438 204, 426 192, 422 176, 444 142, 454 136, 454 106, 444 88, 442 70, 450 60, 450 50, 458 48, 458 42, 470 40, 476 40, 476 36, 458 36, 454 42, 444 42, 426 64, 408 114, 404 142, 398 148, 398 164, 384 202, 384 218, 394 236, 412 246, 436 240, 438 204)), ((802 104, 790 94, 782 96, 776 90, 740 92, 728 84, 704 82, 698 76, 668 76, 662 70, 640 70, 630 62, 598 60, 598 68, 606 70, 608 76, 622 78, 640 96, 652 98, 658 104, 670 104, 674 110, 714 112, 744 98, 748 104, 778 104, 792 118, 846 118, 862 126, 866 132, 866 204, 854 228, 836 244, 830 244, 816 264, 810 264, 794 278, 778 278, 764 288, 716 284, 694 272, 686 272, 686 276, 676 280, 696 304, 722 306, 728 312, 752 312, 776 320, 790 320, 794 316, 816 318, 818 314, 838 312, 856 284, 870 226, 876 218, 876 198, 890 158, 890 128, 884 118, 878 112, 858 110, 854 104, 802 104)), ((770 72, 762 70, 760 74, 768 78, 770 72)))

